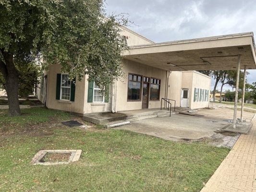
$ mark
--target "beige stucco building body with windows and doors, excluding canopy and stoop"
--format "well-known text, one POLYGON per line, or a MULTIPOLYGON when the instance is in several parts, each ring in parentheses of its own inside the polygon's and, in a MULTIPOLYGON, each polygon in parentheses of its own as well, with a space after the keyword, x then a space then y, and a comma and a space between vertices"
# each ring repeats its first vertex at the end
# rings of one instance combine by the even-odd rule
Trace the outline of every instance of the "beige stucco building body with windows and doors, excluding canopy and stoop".
MULTIPOLYGON (((124 28, 128 46, 154 42, 124 28)), ((110 85, 109 96, 102 96, 98 86, 87 81, 73 84, 60 65, 50 65, 42 76, 37 96, 48 108, 79 115, 119 112, 142 108, 160 108, 161 98, 176 101, 176 107, 205 108, 209 103, 210 77, 195 71, 163 70, 134 60, 123 59, 123 76, 110 85)), ((174 101, 171 101, 174 107, 174 101)), ((164 102, 162 103, 164 107, 164 102)))

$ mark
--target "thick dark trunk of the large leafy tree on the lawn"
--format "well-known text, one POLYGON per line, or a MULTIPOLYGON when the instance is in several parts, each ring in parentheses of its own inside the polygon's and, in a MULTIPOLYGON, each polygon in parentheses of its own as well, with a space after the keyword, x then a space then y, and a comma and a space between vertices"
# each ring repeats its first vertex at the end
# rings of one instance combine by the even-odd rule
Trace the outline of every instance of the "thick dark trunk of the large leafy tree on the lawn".
POLYGON ((0 60, 0 72, 5 80, 5 89, 8 97, 9 115, 21 115, 18 98, 18 72, 13 63, 13 55, 1 50, 4 61, 0 60))

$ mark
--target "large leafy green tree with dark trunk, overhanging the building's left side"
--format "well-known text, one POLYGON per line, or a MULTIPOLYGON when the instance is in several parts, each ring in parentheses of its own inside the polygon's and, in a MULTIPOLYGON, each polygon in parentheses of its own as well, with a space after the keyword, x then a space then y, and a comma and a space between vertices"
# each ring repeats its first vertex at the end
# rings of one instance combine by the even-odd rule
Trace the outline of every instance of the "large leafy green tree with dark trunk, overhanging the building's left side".
POLYGON ((122 16, 107 16, 102 0, 0 0, 0 72, 9 114, 20 115, 16 65, 40 60, 43 69, 59 63, 69 77, 100 86, 122 73, 122 16))

